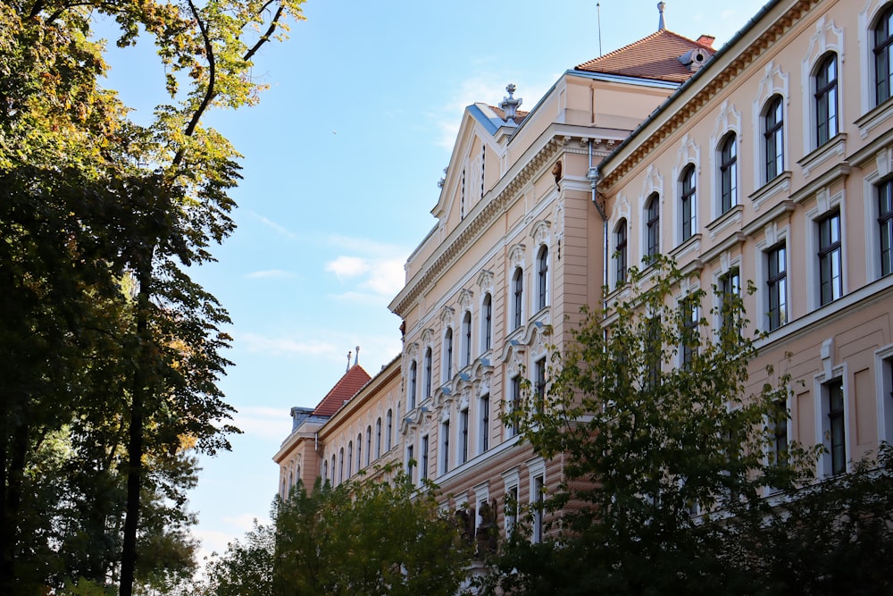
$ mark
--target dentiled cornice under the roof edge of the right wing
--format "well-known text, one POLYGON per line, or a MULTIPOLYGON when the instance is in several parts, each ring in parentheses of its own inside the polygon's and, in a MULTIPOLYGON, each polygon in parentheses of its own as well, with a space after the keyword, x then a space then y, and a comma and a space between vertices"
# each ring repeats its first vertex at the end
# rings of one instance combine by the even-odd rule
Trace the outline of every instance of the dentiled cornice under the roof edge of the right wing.
MULTIPOLYGON (((644 136, 641 142, 635 147, 630 148, 630 155, 621 157, 621 161, 611 172, 605 173, 602 180, 602 189, 610 192, 614 184, 621 180, 624 176, 632 172, 638 164, 646 160, 647 156, 652 154, 655 149, 682 129, 686 123, 700 112, 708 102, 714 100, 723 89, 730 86, 733 81, 739 80, 739 75, 754 63, 760 55, 771 47, 781 36, 783 36, 797 21, 800 21, 805 13, 808 13, 815 4, 821 0, 799 0, 779 19, 774 21, 758 38, 743 49, 739 55, 730 59, 730 62, 722 68, 722 71, 716 73, 713 77, 708 78, 700 88, 692 88, 689 92, 692 95, 688 100, 682 97, 670 97, 662 108, 672 105, 676 101, 685 101, 679 109, 665 117, 662 123, 655 123, 655 130, 648 132, 647 130, 639 130, 638 134, 644 136)), ((692 82, 699 82, 693 80, 692 82)), ((688 90, 683 85, 680 88, 680 94, 683 95, 688 90)), ((633 132, 637 134, 637 132, 633 132)))

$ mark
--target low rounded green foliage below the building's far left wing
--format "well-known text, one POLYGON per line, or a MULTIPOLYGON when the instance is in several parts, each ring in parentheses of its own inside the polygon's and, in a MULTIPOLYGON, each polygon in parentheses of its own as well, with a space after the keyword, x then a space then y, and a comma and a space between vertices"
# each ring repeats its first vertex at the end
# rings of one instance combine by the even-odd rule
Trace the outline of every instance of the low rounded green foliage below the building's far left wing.
POLYGON ((273 519, 209 564, 204 593, 450 596, 471 557, 433 488, 420 491, 405 474, 298 485, 274 503, 273 519))

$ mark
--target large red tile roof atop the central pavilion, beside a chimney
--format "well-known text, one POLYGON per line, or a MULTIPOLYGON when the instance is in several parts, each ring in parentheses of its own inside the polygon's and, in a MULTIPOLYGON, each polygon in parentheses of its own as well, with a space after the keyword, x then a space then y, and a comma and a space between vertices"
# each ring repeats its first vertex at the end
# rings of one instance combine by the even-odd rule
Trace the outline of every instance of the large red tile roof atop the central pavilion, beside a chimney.
MULTIPOLYGON (((701 36, 705 41, 706 38, 708 37, 701 36)), ((716 53, 714 48, 705 43, 661 29, 629 46, 579 64, 576 70, 681 83, 689 80, 694 72, 680 63, 679 57, 693 49, 702 49, 710 56, 716 53)))

